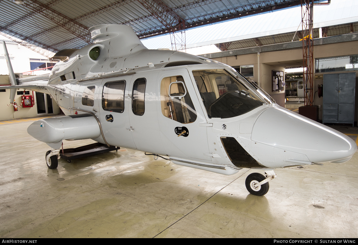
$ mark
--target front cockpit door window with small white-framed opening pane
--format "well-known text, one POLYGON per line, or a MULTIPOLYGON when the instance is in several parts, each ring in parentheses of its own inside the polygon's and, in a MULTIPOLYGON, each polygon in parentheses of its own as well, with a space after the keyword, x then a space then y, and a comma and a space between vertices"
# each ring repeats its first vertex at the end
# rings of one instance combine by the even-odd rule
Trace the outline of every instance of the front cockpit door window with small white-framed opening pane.
POLYGON ((161 112, 165 117, 183 124, 194 122, 197 119, 197 112, 182 76, 170 76, 161 80, 160 100, 161 112))

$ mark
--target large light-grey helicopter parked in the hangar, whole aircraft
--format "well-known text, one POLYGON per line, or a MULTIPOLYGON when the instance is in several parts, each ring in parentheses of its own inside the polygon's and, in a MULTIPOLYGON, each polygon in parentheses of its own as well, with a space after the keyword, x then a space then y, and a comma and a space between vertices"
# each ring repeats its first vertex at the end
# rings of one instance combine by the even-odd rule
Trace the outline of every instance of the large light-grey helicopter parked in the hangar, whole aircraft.
POLYGON ((263 170, 246 179, 247 190, 262 196, 276 168, 341 163, 357 150, 346 135, 280 107, 226 64, 149 50, 126 25, 89 30, 93 44, 61 50, 50 74, 23 79, 15 78, 4 43, 11 86, 2 88, 11 89, 10 102, 16 89, 34 90, 50 94, 66 114, 27 130, 52 147, 50 169, 63 140, 93 139, 219 174, 263 170))

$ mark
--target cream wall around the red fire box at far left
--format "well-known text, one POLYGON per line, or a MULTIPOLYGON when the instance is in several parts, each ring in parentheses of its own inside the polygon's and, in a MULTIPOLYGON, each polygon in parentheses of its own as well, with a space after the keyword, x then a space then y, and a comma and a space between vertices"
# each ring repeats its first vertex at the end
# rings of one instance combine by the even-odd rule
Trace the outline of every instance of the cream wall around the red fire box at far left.
MULTIPOLYGON (((26 76, 24 76, 26 77, 26 76)), ((9 75, 0 75, 0 84, 10 85, 9 75)), ((0 86, 1 89, 1 86, 0 86)), ((17 90, 23 91, 23 90, 17 90)), ((32 95, 32 91, 30 91, 32 95)), ((34 92, 35 95, 35 92, 34 92)), ((26 117, 36 117, 37 116, 37 101, 36 96, 34 96, 35 105, 33 107, 19 107, 18 111, 14 111, 14 106, 10 105, 10 89, 6 89, 5 92, 0 92, 0 120, 4 119, 15 119, 15 118, 26 118, 26 117)), ((21 95, 15 95, 16 104, 21 104, 21 95)), ((57 105, 56 101, 52 99, 53 114, 59 114, 60 108, 57 105)))

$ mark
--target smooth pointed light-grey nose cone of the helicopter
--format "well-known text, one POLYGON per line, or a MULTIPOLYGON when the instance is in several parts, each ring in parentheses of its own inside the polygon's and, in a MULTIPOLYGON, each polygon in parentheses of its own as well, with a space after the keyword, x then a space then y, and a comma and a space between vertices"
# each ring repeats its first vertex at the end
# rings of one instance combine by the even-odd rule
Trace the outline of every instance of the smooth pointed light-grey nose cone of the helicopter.
POLYGON ((257 118, 251 139, 305 154, 311 162, 348 161, 357 145, 348 136, 282 107, 270 107, 257 118))

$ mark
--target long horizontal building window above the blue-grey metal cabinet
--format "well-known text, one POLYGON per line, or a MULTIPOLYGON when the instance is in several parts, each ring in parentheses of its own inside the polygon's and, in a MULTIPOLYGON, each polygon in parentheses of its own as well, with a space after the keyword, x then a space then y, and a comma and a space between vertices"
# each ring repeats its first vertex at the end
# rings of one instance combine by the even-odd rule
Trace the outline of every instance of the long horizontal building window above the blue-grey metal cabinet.
POLYGON ((315 61, 315 72, 358 70, 358 55, 318 58, 315 61))

